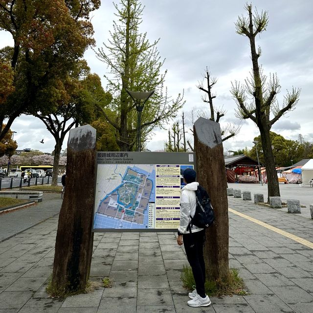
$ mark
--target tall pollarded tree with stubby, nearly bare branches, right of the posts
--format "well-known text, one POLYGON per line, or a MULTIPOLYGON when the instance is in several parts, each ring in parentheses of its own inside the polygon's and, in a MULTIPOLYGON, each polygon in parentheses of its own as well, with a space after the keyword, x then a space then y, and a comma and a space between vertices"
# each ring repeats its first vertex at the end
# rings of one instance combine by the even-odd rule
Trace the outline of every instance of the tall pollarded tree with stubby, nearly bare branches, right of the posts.
MULTIPOLYGON (((264 164, 266 166, 268 178, 268 197, 280 196, 278 179, 275 169, 275 161, 272 152, 272 142, 270 140, 270 129, 286 112, 294 109, 299 96, 300 89, 292 88, 287 92, 282 108, 276 101, 276 95, 280 91, 280 84, 276 74, 270 74, 267 80, 262 67, 259 66, 261 48, 255 46, 256 37, 266 30, 268 25, 268 12, 259 14, 255 11, 252 14, 252 5, 246 4, 245 7, 248 17, 241 16, 236 22, 236 32, 246 36, 250 43, 252 73, 246 79, 246 85, 238 81, 232 83, 231 93, 235 99, 238 111, 237 116, 242 119, 251 119, 258 127, 264 152, 264 164), (250 101, 250 97, 254 100, 250 101), (272 114, 272 115, 271 115, 272 114)), ((268 198, 269 199, 269 198, 268 198)))

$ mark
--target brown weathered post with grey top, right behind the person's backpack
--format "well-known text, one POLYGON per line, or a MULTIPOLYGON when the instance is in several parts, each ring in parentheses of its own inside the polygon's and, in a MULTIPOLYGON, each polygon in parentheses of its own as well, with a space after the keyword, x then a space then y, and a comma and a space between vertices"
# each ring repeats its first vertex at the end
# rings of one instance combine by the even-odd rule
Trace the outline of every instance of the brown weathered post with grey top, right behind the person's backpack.
POLYGON ((197 180, 212 201, 215 224, 206 230, 204 260, 210 279, 228 275, 228 201, 220 124, 199 118, 194 125, 197 180))

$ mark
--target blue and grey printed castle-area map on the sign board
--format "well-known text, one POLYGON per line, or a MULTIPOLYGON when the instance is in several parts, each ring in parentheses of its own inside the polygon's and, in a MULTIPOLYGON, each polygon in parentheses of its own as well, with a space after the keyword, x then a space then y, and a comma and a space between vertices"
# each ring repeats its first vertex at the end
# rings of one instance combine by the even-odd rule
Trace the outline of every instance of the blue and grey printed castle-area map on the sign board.
POLYGON ((155 177, 155 165, 98 164, 94 229, 148 228, 155 177))

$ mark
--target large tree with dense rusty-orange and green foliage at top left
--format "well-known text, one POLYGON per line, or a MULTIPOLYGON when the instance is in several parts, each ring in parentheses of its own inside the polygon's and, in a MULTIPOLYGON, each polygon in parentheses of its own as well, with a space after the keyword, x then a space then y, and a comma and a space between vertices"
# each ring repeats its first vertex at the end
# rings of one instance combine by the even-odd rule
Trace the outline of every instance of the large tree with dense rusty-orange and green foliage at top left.
POLYGON ((4 70, 8 77, 0 81, 0 90, 9 87, 0 96, 0 140, 22 113, 55 109, 62 81, 94 43, 89 14, 99 5, 100 0, 0 1, 0 30, 14 42, 0 50, 1 74, 3 64, 10 65, 4 70))

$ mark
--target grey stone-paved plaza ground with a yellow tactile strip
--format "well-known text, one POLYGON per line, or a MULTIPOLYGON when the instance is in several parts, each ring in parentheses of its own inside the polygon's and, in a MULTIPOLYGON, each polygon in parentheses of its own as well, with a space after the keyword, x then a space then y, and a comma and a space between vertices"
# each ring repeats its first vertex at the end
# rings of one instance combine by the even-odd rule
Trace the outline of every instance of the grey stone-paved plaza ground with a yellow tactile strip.
MULTIPOLYGON (((312 189, 286 193, 299 199, 291 191, 303 192, 307 204, 313 203, 312 189)), ((187 260, 176 234, 124 232, 94 234, 90 280, 109 276, 112 288, 48 297, 62 200, 60 194, 44 194, 37 205, 0 215, 0 313, 313 312, 313 220, 230 196, 228 202, 229 262, 245 281, 245 296, 211 297, 209 307, 188 307, 179 279, 187 260)))

